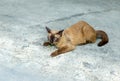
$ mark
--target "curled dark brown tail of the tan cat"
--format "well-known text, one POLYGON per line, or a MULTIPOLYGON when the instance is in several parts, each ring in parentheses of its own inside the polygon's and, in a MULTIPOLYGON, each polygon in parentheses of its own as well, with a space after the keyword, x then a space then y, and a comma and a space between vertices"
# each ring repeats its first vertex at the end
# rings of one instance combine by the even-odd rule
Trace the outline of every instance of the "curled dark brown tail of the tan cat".
POLYGON ((109 42, 108 35, 102 31, 102 30, 97 30, 96 31, 96 36, 97 38, 101 38, 102 40, 98 43, 98 46, 103 46, 109 42))

